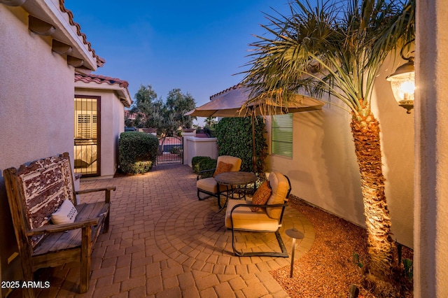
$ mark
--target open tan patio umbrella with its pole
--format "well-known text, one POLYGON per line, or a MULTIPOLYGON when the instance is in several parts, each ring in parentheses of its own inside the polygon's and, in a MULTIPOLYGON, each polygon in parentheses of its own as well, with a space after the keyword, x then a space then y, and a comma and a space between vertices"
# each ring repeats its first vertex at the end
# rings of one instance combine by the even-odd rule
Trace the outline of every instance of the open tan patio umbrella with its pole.
POLYGON ((292 101, 288 102, 288 106, 279 106, 277 104, 258 105, 251 104, 243 108, 244 103, 248 100, 250 90, 241 85, 230 87, 223 92, 215 94, 210 97, 207 104, 194 108, 185 115, 196 117, 251 117, 252 125, 252 147, 253 147, 253 172, 256 169, 255 157, 255 123, 254 116, 256 115, 279 115, 285 113, 299 113, 307 111, 321 110, 323 103, 317 99, 299 95, 292 101))

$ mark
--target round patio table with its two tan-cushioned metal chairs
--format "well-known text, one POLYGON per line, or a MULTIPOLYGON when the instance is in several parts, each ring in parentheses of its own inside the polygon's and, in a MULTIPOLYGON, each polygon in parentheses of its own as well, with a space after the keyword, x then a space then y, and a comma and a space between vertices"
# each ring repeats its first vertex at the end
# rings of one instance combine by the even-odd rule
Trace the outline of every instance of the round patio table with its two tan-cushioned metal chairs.
POLYGON ((225 206, 225 227, 232 230, 232 249, 235 255, 288 257, 279 228, 283 219, 283 212, 288 206, 288 197, 291 191, 290 180, 279 172, 269 173, 265 181, 256 190, 255 173, 239 171, 241 159, 231 156, 220 156, 217 159, 216 169, 200 172, 197 176, 197 197, 201 193, 218 199, 219 211, 225 206), (204 173, 214 171, 214 177, 202 178, 204 173), (253 198, 246 200, 246 192, 241 195, 239 186, 253 183, 253 198), (235 199, 236 194, 236 199, 235 199), (225 197, 225 204, 221 206, 221 197, 225 197), (235 231, 273 232, 281 248, 281 252, 251 251, 243 252, 236 248, 235 231))

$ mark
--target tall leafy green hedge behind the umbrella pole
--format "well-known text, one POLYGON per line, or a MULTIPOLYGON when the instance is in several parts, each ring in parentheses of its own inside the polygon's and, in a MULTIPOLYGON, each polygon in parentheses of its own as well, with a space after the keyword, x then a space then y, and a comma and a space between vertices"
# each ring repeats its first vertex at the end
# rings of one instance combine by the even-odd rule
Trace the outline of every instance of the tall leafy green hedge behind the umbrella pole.
MULTIPOLYGON (((256 173, 264 173, 267 144, 265 122, 261 117, 255 120, 256 173)), ((218 155, 231 155, 241 158, 241 171, 253 171, 252 125, 251 118, 223 118, 216 125, 218 155)))

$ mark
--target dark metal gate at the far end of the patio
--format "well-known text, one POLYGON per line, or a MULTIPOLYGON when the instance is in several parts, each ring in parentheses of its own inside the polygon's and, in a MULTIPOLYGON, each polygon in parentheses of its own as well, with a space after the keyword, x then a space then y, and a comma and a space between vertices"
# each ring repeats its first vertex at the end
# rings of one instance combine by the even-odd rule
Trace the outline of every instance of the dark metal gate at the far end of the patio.
POLYGON ((159 139, 157 164, 183 164, 183 138, 165 136, 159 139))

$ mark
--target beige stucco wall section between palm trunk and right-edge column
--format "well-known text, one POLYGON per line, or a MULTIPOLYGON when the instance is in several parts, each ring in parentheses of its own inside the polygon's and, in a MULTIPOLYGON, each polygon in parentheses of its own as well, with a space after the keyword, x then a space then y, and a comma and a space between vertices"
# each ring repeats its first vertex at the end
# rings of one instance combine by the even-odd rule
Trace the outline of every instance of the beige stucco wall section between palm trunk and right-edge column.
POLYGON ((390 59, 374 87, 372 111, 380 123, 386 198, 393 239, 414 248, 414 110, 407 114, 393 98, 386 76, 407 61, 390 59))

